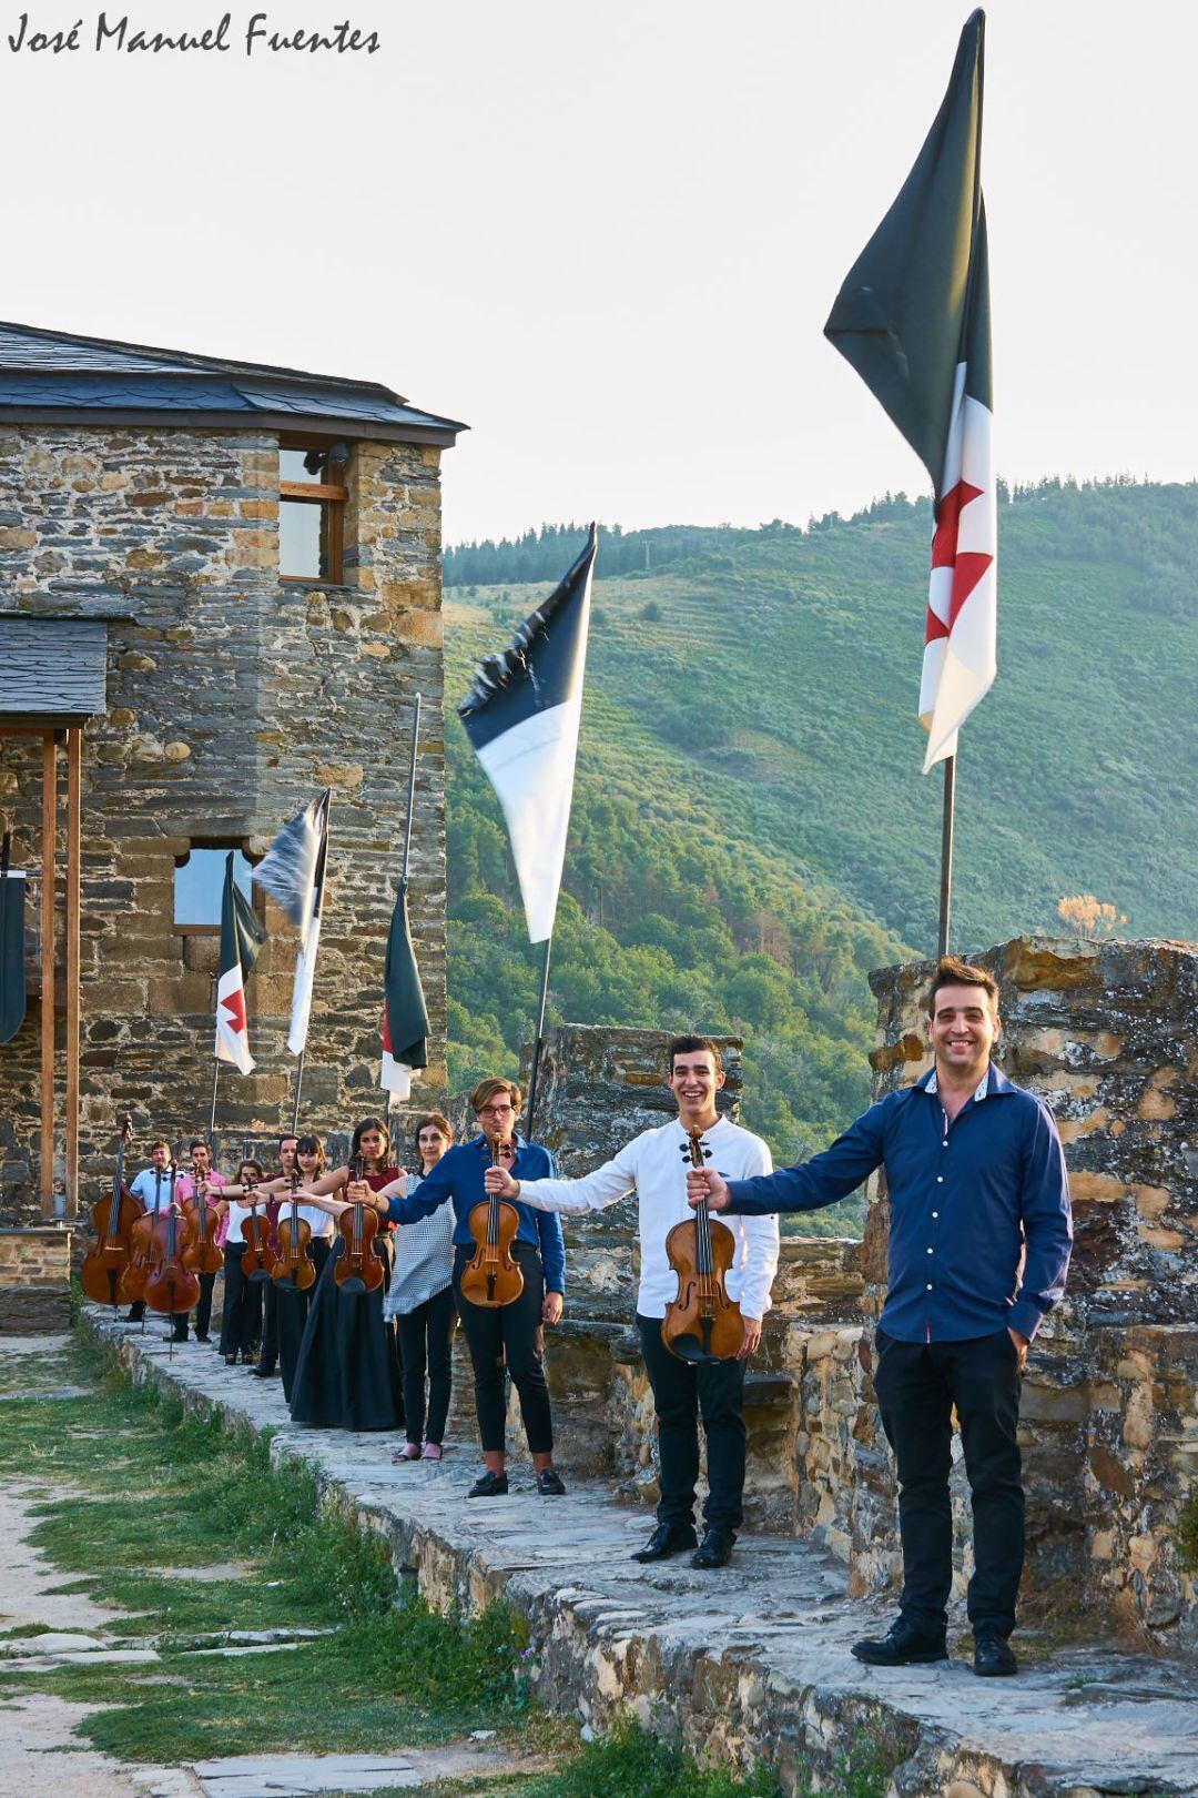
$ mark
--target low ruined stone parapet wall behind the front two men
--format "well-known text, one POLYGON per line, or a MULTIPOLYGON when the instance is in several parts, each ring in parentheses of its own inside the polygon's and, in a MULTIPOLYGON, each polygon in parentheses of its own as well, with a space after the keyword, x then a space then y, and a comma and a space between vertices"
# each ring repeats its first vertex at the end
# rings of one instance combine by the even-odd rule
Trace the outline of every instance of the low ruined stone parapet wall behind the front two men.
MULTIPOLYGON (((1044 1095, 1061 1127, 1078 1228, 1069 1296, 1040 1331, 1024 1383, 1024 1611, 1092 1613, 1191 1640, 1198 1606, 1178 1532, 1198 1473, 1198 951, 1017 939, 977 960, 1000 982, 1004 1070, 1044 1095)), ((912 964, 871 980, 878 1091, 929 1066, 918 1012, 929 973, 912 964)), ((663 1046, 654 1032, 568 1027, 551 1037, 541 1117, 566 1172, 668 1115, 654 1086, 663 1046)), ((868 1197, 862 1242, 783 1237, 745 1388, 751 1521, 828 1546, 857 1597, 893 1593, 900 1579, 893 1462, 873 1395, 880 1181, 868 1197)), ((634 1230, 630 1201, 566 1221, 568 1313, 550 1366, 568 1451, 652 1501, 652 1395, 629 1327, 634 1230)), ((961 1595, 970 1512, 959 1464, 954 1519, 961 1595)))

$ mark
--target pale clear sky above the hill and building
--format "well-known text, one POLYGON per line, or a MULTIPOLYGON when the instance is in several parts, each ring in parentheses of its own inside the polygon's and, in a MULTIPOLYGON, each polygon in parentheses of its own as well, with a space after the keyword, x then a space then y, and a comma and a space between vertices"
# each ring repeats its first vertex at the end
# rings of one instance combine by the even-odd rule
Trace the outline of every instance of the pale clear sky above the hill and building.
MULTIPOLYGON (((83 11, 77 7, 83 5, 83 11)), ((805 523, 927 491, 823 338, 939 104, 959 0, 251 0, 228 54, 0 0, 0 318, 379 379, 469 423, 445 541, 805 523), (244 56, 348 18, 366 54, 244 56)), ((126 11, 108 5, 110 23, 126 11)), ((223 5, 129 0, 129 29, 223 5)), ((1198 476, 1191 0, 995 0, 997 466, 1198 476)))

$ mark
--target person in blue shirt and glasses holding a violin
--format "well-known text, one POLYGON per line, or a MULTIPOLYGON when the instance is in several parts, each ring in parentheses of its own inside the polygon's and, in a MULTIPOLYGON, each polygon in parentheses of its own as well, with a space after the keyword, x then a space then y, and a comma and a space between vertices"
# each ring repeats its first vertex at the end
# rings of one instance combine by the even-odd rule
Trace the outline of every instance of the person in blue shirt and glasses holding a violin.
POLYGON ((347 1197, 375 1205, 383 1217, 397 1224, 431 1217, 440 1205, 453 1199, 456 1219, 453 1289, 474 1365, 474 1410, 487 1467, 471 1487, 471 1498, 503 1498, 508 1491, 505 1365, 519 1393, 537 1491, 542 1496, 559 1496, 566 1491, 553 1467, 553 1419, 541 1359, 541 1325, 560 1320, 566 1291, 560 1219, 551 1212, 535 1212, 530 1205, 512 1203, 512 1210, 519 1215, 512 1255, 524 1277, 519 1298, 508 1305, 476 1305, 462 1293, 462 1269, 474 1255, 469 1217, 476 1205, 489 1203, 483 1174, 492 1165, 492 1153, 505 1156, 505 1165, 517 1179, 546 1179, 555 1172, 548 1149, 515 1135, 519 1108, 521 1090, 515 1081, 481 1081, 471 1093, 480 1135, 447 1149, 411 1197, 395 1196, 406 1187, 406 1179, 402 1187, 395 1181, 377 1196, 365 1185, 347 1188, 347 1197))

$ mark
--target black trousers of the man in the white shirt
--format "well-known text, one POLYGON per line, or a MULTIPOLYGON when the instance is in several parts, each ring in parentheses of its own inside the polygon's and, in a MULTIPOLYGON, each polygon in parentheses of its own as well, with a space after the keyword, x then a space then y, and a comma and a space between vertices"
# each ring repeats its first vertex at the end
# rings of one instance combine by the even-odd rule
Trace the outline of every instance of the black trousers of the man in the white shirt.
POLYGON ((661 1458, 659 1523, 695 1521, 699 1480, 699 1419, 708 1438, 708 1496, 704 1523, 738 1530, 745 1489, 745 1363, 679 1361, 661 1340, 661 1318, 638 1311, 645 1372, 654 1388, 657 1453, 661 1458))

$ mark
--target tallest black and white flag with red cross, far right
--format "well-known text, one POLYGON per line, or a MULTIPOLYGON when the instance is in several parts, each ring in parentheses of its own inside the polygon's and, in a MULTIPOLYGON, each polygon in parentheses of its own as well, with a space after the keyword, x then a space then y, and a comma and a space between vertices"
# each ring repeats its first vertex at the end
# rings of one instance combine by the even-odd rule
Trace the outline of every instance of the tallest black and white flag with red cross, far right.
POLYGON ((936 489, 920 681, 925 773, 956 755, 957 730, 997 667, 999 520, 981 187, 984 36, 979 9, 961 32, 923 149, 824 325, 936 489))

